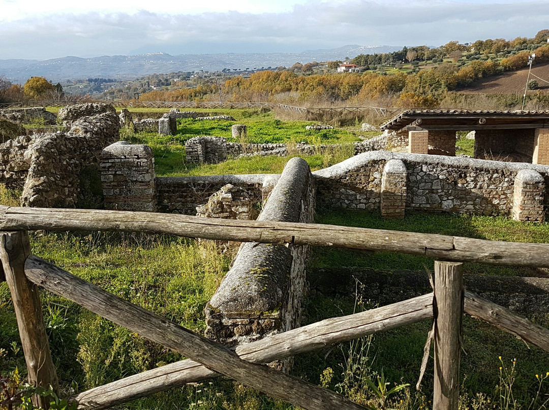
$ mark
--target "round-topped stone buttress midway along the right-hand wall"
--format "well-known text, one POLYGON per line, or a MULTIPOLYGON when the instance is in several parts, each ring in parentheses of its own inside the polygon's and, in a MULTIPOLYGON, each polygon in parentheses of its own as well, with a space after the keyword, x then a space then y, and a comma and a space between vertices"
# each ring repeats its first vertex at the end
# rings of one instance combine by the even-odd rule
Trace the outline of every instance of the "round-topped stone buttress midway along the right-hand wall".
POLYGON ((389 160, 381 177, 381 215, 402 219, 406 208, 406 180, 408 171, 401 160, 389 160))

